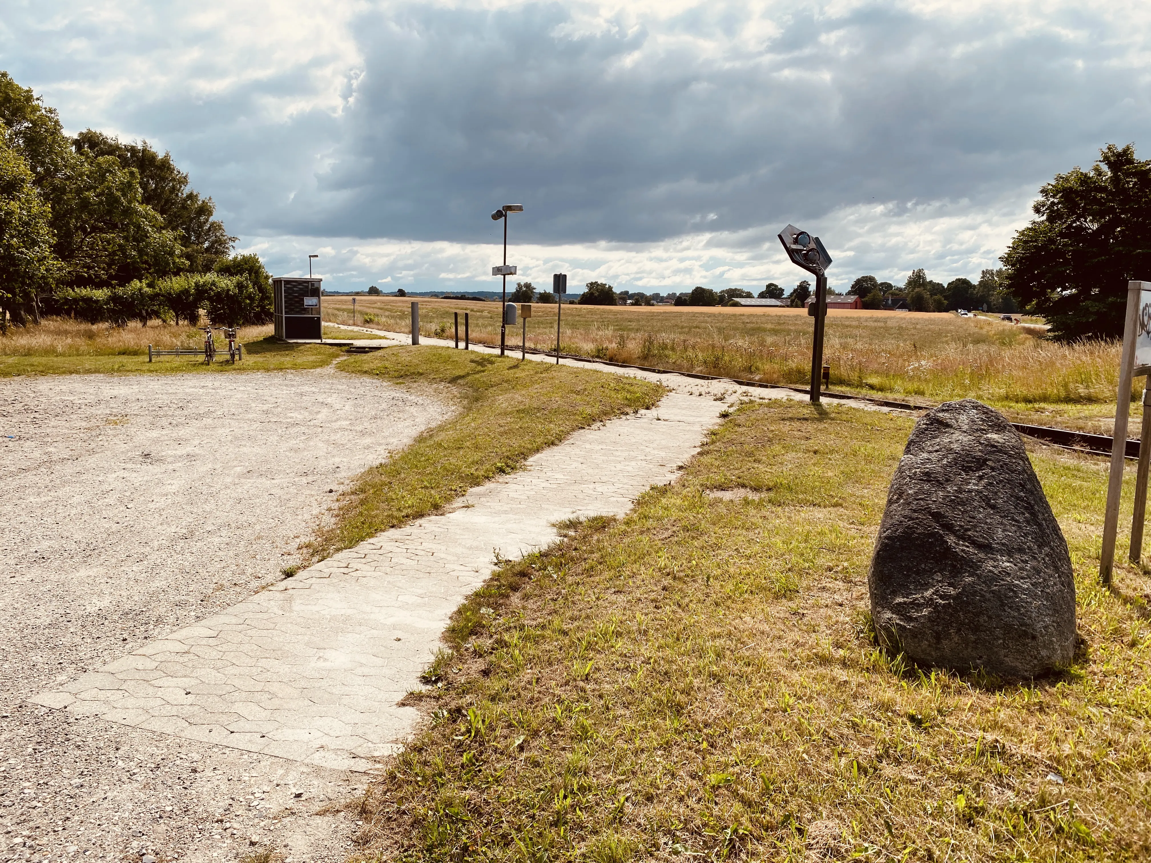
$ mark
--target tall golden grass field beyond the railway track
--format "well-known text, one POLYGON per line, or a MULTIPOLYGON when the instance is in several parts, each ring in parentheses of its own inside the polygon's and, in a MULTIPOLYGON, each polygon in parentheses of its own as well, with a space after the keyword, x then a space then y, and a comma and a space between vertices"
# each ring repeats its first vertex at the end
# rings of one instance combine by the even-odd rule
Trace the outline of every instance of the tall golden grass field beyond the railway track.
MULTIPOLYGON (((532 308, 528 345, 555 350, 556 306, 532 308)), ((498 310, 496 303, 421 299, 421 333, 451 337, 452 313, 460 313, 463 330, 466 311, 472 338, 497 343, 498 310)), ((351 323, 351 298, 327 297, 323 312, 327 320, 351 323)), ((406 331, 409 315, 407 299, 357 297, 360 326, 406 331)), ((519 344, 520 331, 509 331, 509 344, 519 344)), ((824 356, 832 388, 841 391, 930 403, 971 397, 1021 419, 1110 433, 1118 345, 1064 345, 1041 336, 986 318, 837 311, 828 315, 824 356)), ((803 310, 564 306, 562 348, 618 362, 803 385, 811 368, 811 319, 803 310)))

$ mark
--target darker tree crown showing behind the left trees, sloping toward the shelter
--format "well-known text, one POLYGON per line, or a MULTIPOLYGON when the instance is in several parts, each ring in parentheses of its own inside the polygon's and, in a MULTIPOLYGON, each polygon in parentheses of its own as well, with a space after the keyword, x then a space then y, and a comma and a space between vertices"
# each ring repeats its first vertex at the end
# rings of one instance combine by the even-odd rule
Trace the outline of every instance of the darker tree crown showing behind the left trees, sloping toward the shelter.
POLYGON ((114 156, 122 168, 136 170, 140 199, 160 214, 166 229, 176 231, 189 270, 207 273, 231 253, 236 238, 228 236, 223 222, 213 219, 215 204, 189 188, 188 174, 176 167, 170 153, 160 155, 146 140, 121 144, 92 129, 77 135, 74 147, 93 158, 114 156))

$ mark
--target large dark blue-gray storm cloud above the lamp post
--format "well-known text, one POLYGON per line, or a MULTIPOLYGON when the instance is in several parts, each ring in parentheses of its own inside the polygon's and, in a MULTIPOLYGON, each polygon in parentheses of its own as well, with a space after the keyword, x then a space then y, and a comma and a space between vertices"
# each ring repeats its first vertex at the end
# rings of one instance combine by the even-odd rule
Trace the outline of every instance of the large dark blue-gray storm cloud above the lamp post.
POLYGON ((506 199, 533 240, 657 240, 988 201, 1146 129, 1146 82, 1088 12, 769 17, 777 32, 747 44, 737 5, 596 32, 558 3, 367 13, 329 167, 272 224, 480 240, 506 199))

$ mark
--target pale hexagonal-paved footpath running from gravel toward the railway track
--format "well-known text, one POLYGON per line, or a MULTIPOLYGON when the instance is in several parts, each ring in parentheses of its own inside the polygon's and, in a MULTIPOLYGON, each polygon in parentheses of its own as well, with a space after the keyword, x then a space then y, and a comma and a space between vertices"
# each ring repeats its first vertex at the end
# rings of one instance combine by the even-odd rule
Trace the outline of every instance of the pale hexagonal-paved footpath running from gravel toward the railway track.
POLYGON ((418 719, 451 612, 573 515, 624 514, 669 482, 724 404, 672 392, 584 429, 443 515, 388 530, 33 701, 124 725, 322 766, 366 770, 418 719))

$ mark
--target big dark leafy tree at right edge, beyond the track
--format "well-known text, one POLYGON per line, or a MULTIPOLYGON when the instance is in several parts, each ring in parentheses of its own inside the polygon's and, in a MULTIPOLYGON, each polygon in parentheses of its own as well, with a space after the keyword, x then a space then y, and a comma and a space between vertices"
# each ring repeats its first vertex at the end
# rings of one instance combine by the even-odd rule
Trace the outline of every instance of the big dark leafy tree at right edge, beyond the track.
POLYGON ((1108 144, 1089 170, 1057 174, 1031 208, 1000 258, 1000 289, 1054 338, 1121 337, 1127 282, 1151 272, 1151 161, 1108 144))

